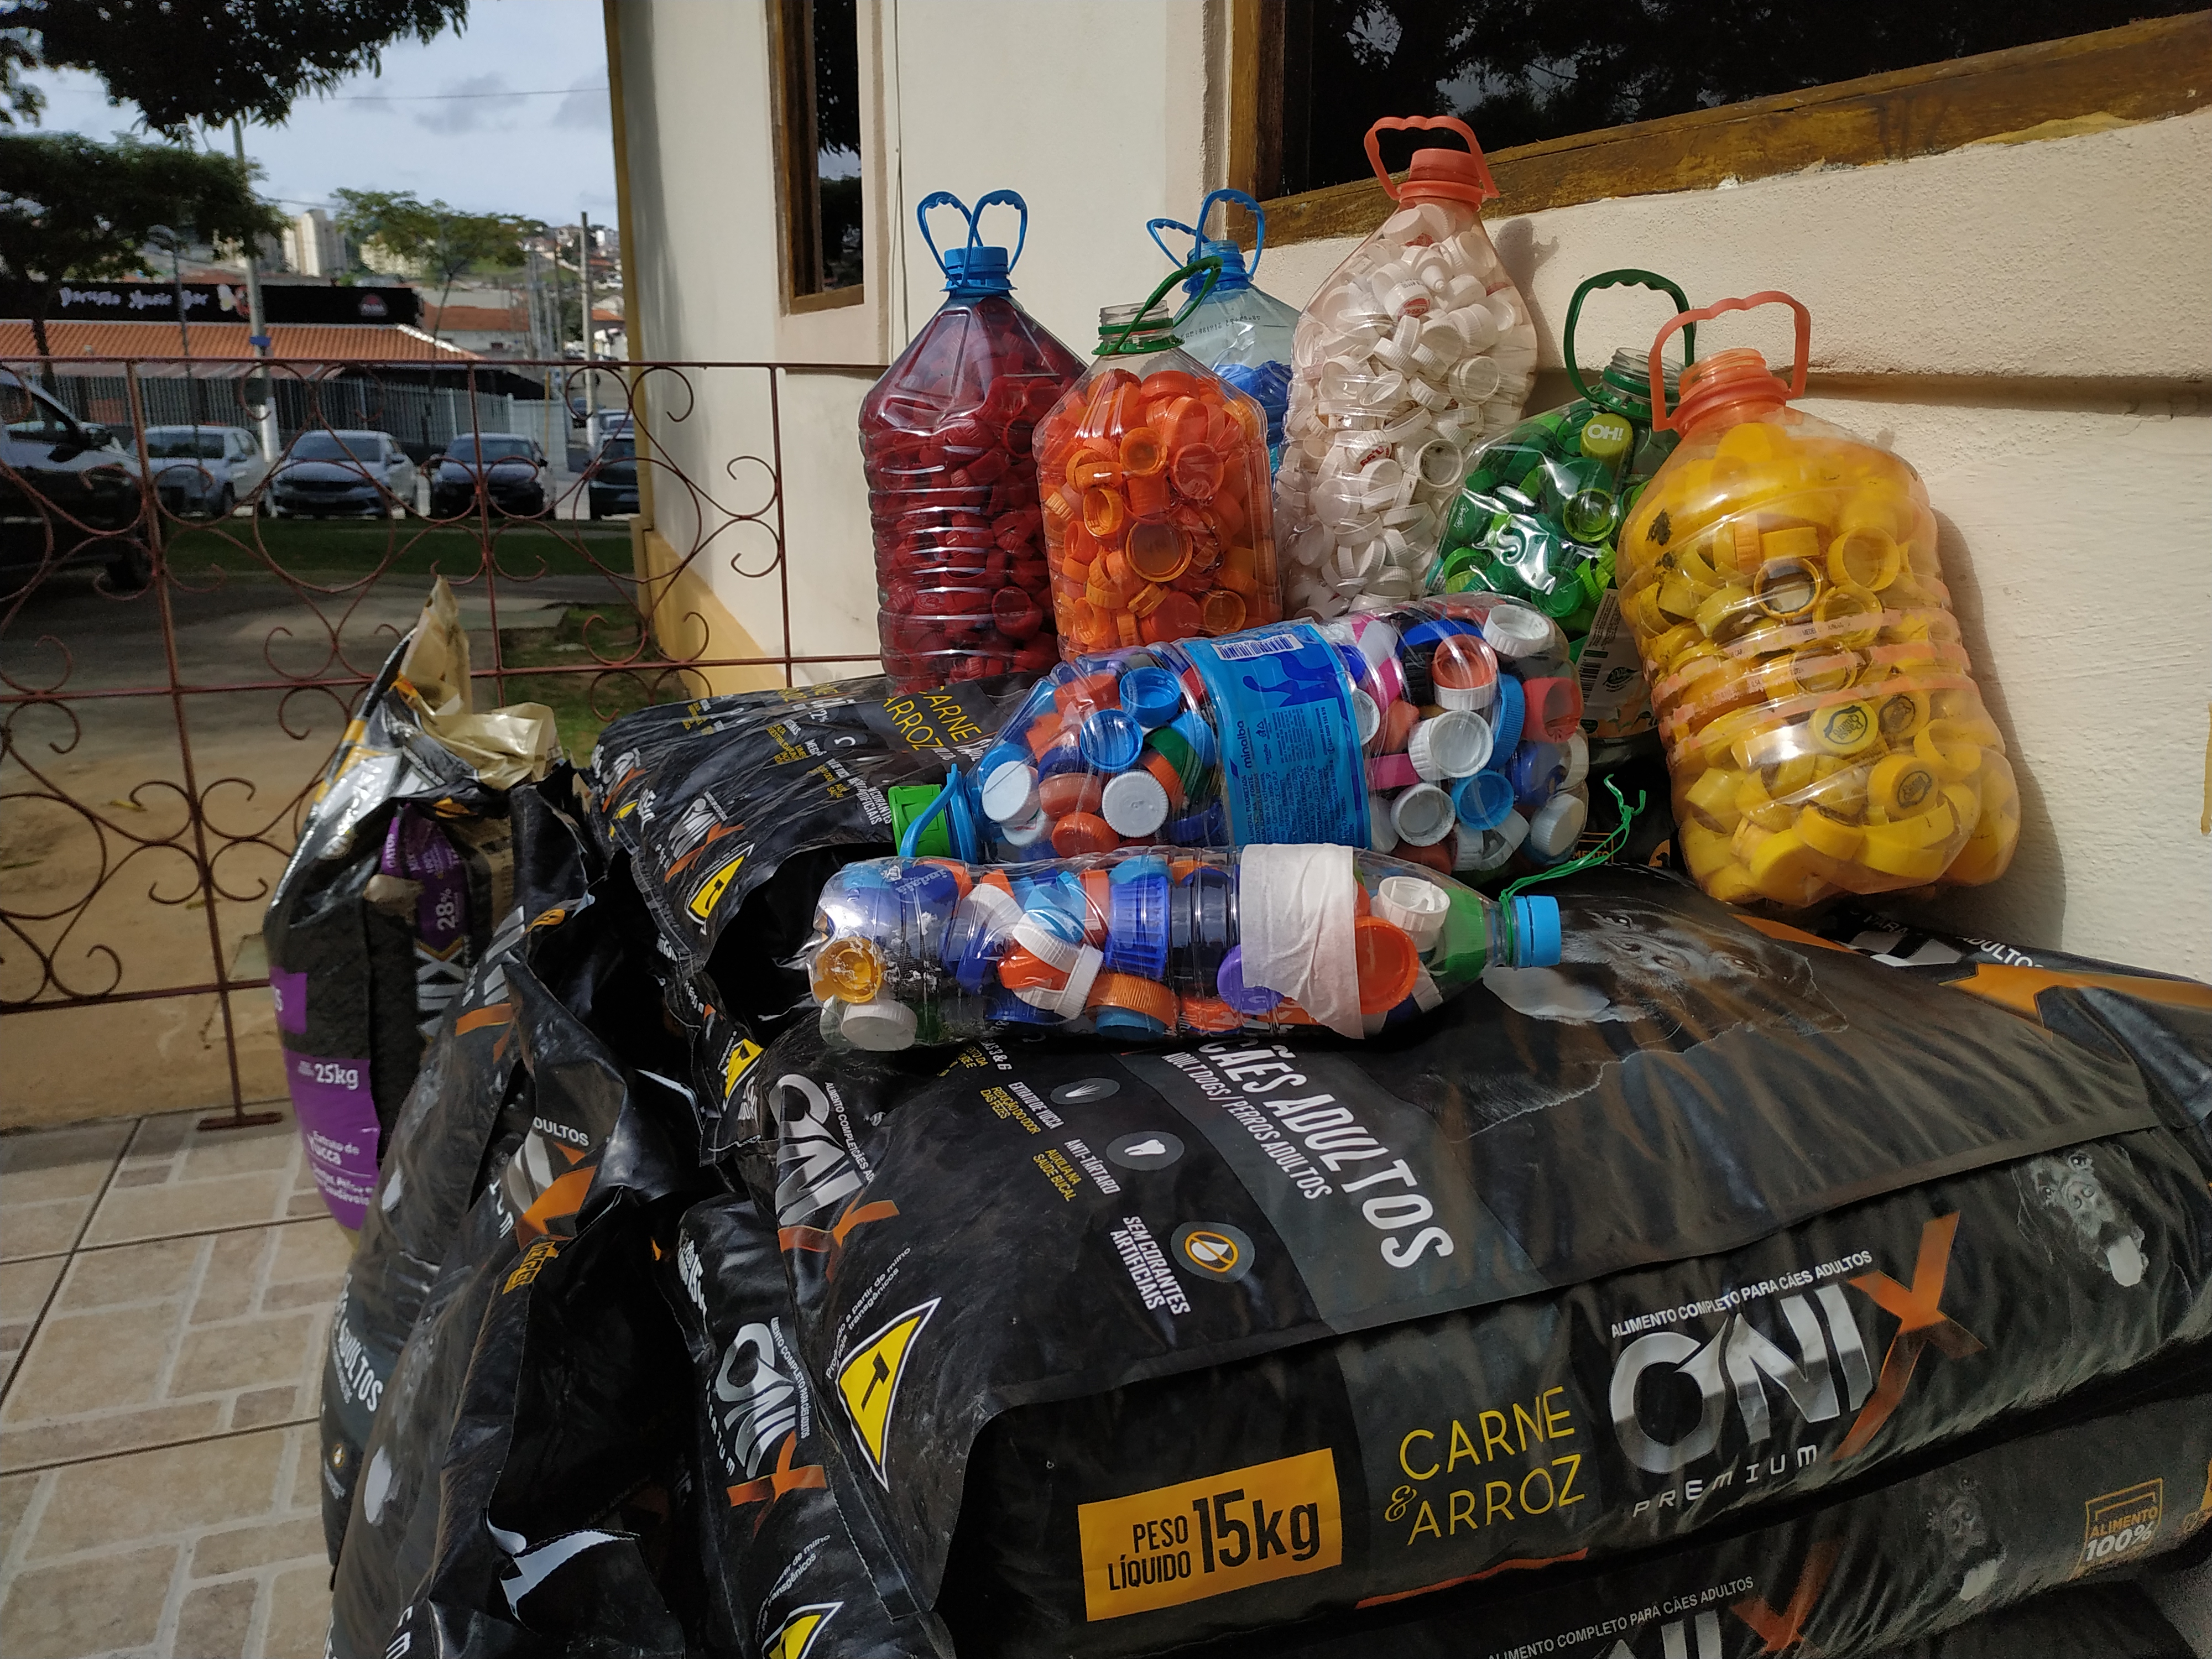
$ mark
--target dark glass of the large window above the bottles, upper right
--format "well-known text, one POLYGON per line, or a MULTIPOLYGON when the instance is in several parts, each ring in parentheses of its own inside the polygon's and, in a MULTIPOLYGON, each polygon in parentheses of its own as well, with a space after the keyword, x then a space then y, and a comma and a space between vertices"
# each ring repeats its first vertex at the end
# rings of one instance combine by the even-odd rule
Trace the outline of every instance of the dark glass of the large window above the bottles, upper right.
MULTIPOLYGON (((2203 0, 1263 0, 1259 195, 1371 177, 1383 115, 1460 115, 1486 150, 1940 64, 2203 0)), ((1383 155, 1405 166, 1413 144, 1383 155)))

